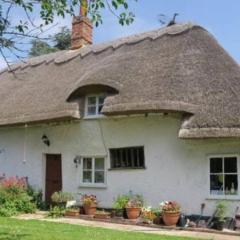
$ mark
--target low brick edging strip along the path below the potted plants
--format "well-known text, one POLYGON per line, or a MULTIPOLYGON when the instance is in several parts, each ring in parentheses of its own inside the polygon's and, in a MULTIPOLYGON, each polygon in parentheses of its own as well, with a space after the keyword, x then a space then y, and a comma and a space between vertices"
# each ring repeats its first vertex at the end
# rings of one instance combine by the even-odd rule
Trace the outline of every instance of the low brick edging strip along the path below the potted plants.
POLYGON ((179 230, 179 231, 189 231, 189 232, 202 232, 202 233, 213 233, 213 234, 221 234, 227 236, 239 236, 240 232, 230 231, 230 230, 223 230, 217 231, 214 229, 205 229, 205 228, 184 228, 184 227, 174 227, 174 226, 164 226, 164 225, 157 225, 157 224, 145 224, 140 222, 139 220, 129 220, 123 218, 110 218, 110 219, 97 219, 94 218, 93 215, 79 215, 78 217, 64 217, 66 219, 82 219, 87 221, 95 221, 95 222, 105 222, 105 223, 115 223, 115 224, 122 224, 122 225, 135 225, 141 227, 150 227, 154 229, 164 229, 164 230, 179 230))

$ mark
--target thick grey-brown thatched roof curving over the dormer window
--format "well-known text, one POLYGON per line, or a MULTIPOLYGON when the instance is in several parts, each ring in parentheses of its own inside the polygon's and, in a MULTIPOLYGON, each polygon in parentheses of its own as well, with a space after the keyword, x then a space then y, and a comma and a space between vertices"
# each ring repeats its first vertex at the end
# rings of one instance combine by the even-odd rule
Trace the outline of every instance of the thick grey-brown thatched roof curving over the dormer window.
POLYGON ((106 115, 180 112, 182 138, 240 137, 240 68, 197 25, 32 58, 12 71, 0 73, 0 125, 81 118, 83 96, 106 91, 106 115))

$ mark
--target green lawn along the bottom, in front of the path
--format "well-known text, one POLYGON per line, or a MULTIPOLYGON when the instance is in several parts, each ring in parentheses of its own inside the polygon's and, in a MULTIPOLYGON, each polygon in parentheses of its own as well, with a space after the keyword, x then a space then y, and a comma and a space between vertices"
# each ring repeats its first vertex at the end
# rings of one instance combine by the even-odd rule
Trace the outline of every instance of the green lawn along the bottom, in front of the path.
MULTIPOLYGON (((0 218, 0 240, 190 240, 70 224, 0 218)), ((196 239, 195 239, 196 240, 196 239)))

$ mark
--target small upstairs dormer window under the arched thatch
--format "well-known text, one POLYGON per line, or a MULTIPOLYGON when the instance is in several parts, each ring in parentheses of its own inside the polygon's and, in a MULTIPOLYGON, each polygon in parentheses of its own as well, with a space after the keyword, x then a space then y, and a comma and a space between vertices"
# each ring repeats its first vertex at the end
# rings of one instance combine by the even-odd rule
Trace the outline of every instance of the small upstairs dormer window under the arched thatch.
POLYGON ((105 96, 87 96, 86 97, 86 111, 85 115, 88 117, 96 117, 101 115, 105 96))

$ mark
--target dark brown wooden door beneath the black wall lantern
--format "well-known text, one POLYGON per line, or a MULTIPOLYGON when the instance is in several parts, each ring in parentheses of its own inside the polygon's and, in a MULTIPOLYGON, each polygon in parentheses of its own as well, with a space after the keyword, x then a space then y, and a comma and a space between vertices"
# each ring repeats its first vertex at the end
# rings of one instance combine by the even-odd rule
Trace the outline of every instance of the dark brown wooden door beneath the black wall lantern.
POLYGON ((46 154, 45 201, 51 203, 54 192, 62 190, 61 154, 46 154))

